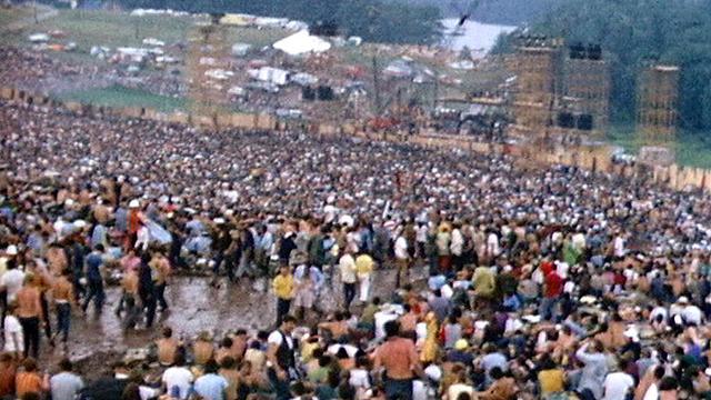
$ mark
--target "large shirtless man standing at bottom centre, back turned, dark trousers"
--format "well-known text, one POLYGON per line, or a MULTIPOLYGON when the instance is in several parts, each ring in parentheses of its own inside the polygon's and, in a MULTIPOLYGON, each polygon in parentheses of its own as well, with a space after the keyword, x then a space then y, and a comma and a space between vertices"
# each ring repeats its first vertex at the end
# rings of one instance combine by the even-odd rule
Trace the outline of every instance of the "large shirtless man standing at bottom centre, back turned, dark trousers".
POLYGON ((384 369, 385 399, 412 400, 414 377, 422 376, 414 343, 399 336, 398 321, 385 322, 384 329, 385 342, 375 350, 374 369, 384 369))

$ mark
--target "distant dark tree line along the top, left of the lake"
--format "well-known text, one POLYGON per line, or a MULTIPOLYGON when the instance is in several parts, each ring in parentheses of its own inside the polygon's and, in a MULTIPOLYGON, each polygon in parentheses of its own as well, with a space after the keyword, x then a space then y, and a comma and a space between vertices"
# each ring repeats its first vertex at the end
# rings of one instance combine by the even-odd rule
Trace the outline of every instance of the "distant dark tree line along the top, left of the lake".
POLYGON ((307 22, 333 21, 368 41, 431 43, 441 34, 440 10, 382 0, 118 0, 127 9, 172 8, 190 12, 247 12, 307 22))

